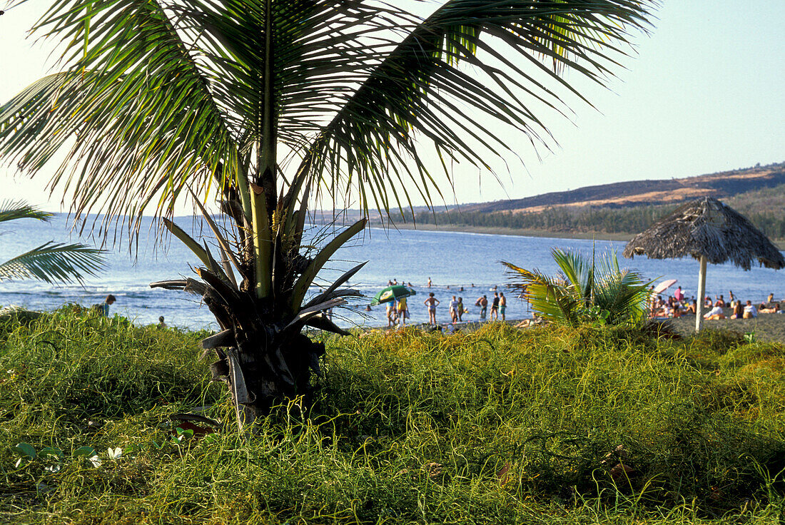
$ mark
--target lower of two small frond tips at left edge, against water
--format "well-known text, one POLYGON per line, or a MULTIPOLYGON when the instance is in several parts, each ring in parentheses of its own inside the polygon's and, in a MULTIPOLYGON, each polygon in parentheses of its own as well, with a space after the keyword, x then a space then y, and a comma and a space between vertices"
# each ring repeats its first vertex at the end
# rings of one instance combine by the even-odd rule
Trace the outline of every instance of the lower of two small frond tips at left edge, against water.
POLYGON ((0 264, 0 280, 40 279, 45 283, 82 282, 104 268, 103 250, 49 241, 0 264))

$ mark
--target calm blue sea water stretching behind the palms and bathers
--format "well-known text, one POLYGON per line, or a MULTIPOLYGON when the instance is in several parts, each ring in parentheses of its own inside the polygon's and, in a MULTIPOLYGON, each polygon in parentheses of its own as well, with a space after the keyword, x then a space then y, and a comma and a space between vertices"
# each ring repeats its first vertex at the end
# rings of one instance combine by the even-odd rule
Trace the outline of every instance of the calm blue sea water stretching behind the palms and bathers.
MULTIPOLYGON (((189 233, 200 228, 193 217, 178 217, 176 222, 189 233)), ((2 281, 0 306, 16 304, 35 310, 49 310, 65 303, 89 306, 100 303, 112 293, 117 302, 112 305, 111 313, 124 315, 133 323, 158 323, 159 315, 163 315, 170 326, 217 329, 199 297, 150 288, 149 284, 155 281, 193 276, 191 268, 198 264, 196 257, 177 239, 156 242, 158 235, 150 226, 150 220, 145 220, 135 251, 129 250, 126 241, 110 246, 106 270, 86 279, 83 286, 51 286, 34 280, 2 281)), ((7 261, 49 240, 91 243, 89 239, 80 239, 79 235, 69 232, 64 215, 57 215, 49 223, 29 219, 6 222, 0 225, 0 261, 7 261)), ((312 228, 310 235, 314 244, 319 243, 316 239, 323 238, 321 234, 323 228, 312 228)), ((597 256, 615 251, 619 253, 619 264, 623 268, 637 270, 646 279, 677 279, 674 286, 681 285, 688 296, 696 293, 698 261, 691 258, 656 261, 646 257, 628 260, 621 256, 624 245, 624 242, 605 240, 371 228, 338 251, 328 268, 319 274, 319 283, 328 283, 354 264, 368 261, 350 282, 352 288, 367 297, 353 301, 349 308, 335 310, 334 320, 340 326, 386 326, 384 305, 373 307, 371 312, 366 312, 365 307, 390 279, 411 283, 416 290, 416 295, 409 297, 410 323, 427 322, 423 301, 429 292, 435 293, 441 301, 436 311, 437 321, 449 321, 448 304, 452 295, 462 297, 463 304, 469 308, 464 320, 478 320, 476 299, 482 295, 490 299, 494 287, 504 291, 509 283, 509 275, 499 261, 552 274, 556 272, 550 256, 554 247, 587 254, 595 250, 597 256), (428 279, 433 283, 431 288, 426 287, 428 279)), ((712 297, 723 293, 727 299, 729 290, 742 300, 762 301, 769 293, 780 299, 785 297, 785 279, 768 268, 754 267, 750 272, 744 272, 732 264, 710 264, 707 293, 712 297)), ((316 287, 312 289, 312 293, 317 291, 316 287)), ((527 303, 513 297, 512 293, 506 295, 507 319, 531 317, 527 303)))

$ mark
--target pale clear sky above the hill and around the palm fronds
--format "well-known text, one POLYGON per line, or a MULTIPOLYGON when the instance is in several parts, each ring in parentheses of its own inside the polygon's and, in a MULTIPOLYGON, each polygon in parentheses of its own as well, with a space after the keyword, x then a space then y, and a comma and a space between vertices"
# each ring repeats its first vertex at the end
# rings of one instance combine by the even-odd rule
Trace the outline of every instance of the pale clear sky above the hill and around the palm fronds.
MULTIPOLYGON (((557 148, 539 148, 538 155, 522 146, 516 152, 524 165, 499 173, 502 184, 458 166, 448 200, 517 199, 785 161, 785 2, 662 3, 651 35, 634 39, 635 56, 623 60, 626 69, 608 89, 568 75, 594 107, 571 104, 570 119, 547 122, 557 148)), ((50 71, 51 46, 25 39, 46 5, 29 0, 0 16, 2 102, 50 71)), ((0 167, 0 200, 67 211, 61 195, 49 197, 45 187, 46 176, 28 180, 0 167)))

